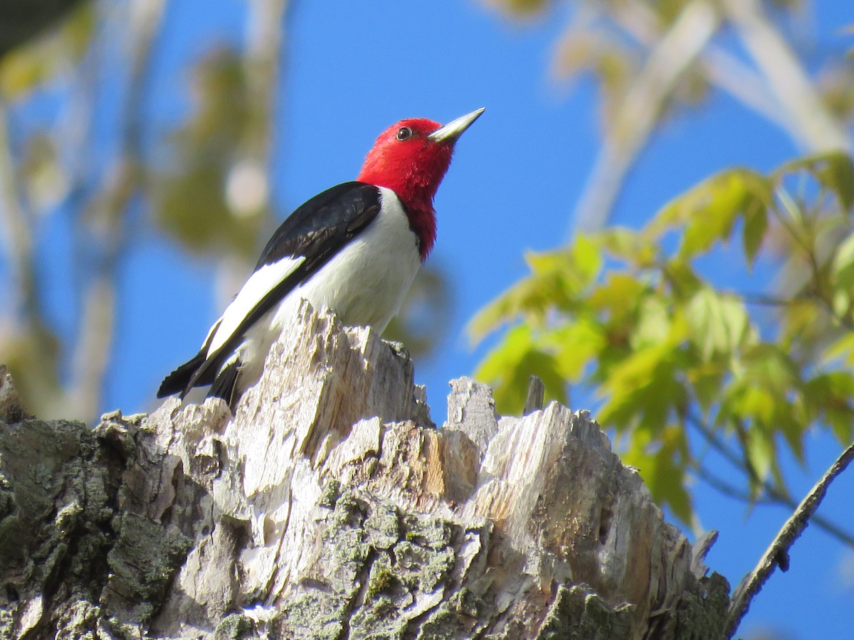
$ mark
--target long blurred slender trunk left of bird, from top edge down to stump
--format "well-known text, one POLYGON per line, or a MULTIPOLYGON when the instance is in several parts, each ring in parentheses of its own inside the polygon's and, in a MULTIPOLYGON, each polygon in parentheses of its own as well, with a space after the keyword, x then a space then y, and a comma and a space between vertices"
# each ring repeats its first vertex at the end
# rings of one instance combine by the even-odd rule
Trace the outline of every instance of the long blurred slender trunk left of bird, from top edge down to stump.
POLYGON ((85 293, 73 358, 69 410, 74 416, 95 416, 100 404, 114 335, 116 277, 126 245, 126 210, 141 183, 141 111, 149 95, 151 50, 165 4, 166 0, 134 0, 130 5, 130 71, 121 119, 120 157, 102 193, 96 194, 92 203, 101 247, 92 282, 85 293))

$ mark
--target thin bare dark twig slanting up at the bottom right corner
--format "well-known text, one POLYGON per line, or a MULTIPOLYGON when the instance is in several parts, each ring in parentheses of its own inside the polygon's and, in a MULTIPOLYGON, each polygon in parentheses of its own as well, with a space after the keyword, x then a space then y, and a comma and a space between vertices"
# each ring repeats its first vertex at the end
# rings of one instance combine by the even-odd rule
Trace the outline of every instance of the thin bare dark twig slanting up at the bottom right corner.
POLYGON ((771 573, 774 573, 775 568, 780 567, 783 571, 788 569, 789 550, 792 548, 795 540, 800 537, 800 534, 810 524, 810 517, 822 503, 822 499, 824 499, 825 494, 828 492, 830 483, 834 481, 837 475, 845 471, 845 468, 851 463, 852 458, 854 458, 854 445, 845 449, 836 459, 836 462, 828 469, 827 473, 822 475, 822 479, 816 482, 810 493, 798 504, 798 509, 795 509, 795 512, 789 517, 786 524, 783 525, 780 532, 771 541, 756 568, 751 573, 748 573, 745 579, 741 581, 729 605, 725 637, 730 638, 734 636, 735 631, 741 623, 741 619, 744 618, 750 608, 753 598, 762 590, 763 585, 768 581, 771 573))

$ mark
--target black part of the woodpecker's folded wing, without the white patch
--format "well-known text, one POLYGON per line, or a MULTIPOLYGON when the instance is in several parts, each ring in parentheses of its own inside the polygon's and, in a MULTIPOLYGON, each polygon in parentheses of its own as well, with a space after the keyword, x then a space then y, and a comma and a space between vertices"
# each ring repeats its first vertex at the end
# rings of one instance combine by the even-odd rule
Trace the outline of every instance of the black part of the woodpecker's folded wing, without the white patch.
POLYGON ((291 213, 267 242, 255 271, 283 258, 304 257, 305 260, 243 317, 228 340, 196 369, 182 395, 192 387, 211 384, 219 368, 240 345, 246 331, 353 240, 377 217, 380 206, 380 191, 376 186, 351 182, 315 195, 291 213))

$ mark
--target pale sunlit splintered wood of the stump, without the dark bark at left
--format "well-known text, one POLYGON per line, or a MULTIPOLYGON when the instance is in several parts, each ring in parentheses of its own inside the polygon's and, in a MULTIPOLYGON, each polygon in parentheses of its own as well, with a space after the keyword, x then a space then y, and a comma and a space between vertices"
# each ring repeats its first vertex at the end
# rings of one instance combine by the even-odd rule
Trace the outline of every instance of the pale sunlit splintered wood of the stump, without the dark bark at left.
POLYGON ((153 631, 237 611, 278 637, 679 637, 719 607, 586 412, 452 387, 433 428, 405 351, 304 305, 233 419, 167 402, 149 424, 199 469, 206 526, 153 631))

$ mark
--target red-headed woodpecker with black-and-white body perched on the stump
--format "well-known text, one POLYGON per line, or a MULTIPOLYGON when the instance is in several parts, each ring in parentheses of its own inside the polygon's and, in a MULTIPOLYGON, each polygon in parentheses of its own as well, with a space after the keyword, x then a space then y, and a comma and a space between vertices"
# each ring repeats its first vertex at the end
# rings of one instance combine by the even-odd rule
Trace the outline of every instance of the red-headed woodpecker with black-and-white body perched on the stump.
POLYGON ((210 385, 208 396, 234 410, 302 299, 382 333, 436 241, 433 198, 454 143, 483 111, 444 126, 403 119, 383 131, 355 182, 315 195, 284 220, 202 349, 167 375, 157 397, 184 399, 210 385))

